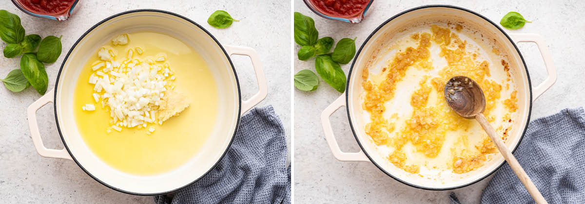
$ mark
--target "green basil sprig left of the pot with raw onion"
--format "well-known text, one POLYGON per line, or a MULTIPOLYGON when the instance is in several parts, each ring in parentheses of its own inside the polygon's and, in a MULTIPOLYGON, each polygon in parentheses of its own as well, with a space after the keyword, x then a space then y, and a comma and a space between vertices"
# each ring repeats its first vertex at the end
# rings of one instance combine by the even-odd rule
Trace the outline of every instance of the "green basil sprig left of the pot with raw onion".
POLYGON ((49 78, 43 62, 57 61, 61 55, 61 37, 47 36, 41 40, 37 34, 25 36, 20 18, 6 10, 0 10, 0 38, 7 44, 3 50, 4 57, 13 58, 23 54, 20 58, 20 69, 13 70, 5 79, 0 79, 6 89, 20 92, 33 86, 39 94, 46 93, 49 78))

